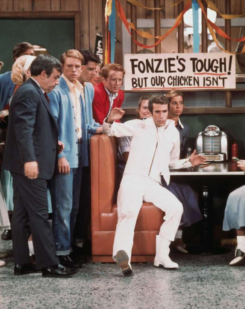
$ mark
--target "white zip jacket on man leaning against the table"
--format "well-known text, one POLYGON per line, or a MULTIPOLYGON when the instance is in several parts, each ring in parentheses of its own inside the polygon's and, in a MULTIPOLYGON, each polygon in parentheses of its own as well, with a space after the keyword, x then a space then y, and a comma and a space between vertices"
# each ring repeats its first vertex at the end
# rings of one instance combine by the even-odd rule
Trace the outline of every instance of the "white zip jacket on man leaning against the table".
POLYGON ((159 173, 169 184, 169 168, 180 169, 192 167, 189 159, 180 160, 180 133, 175 122, 168 119, 163 127, 156 127, 153 118, 130 120, 125 123, 103 122, 103 133, 117 137, 131 136, 129 158, 124 174, 149 176, 150 167, 157 146, 159 173))

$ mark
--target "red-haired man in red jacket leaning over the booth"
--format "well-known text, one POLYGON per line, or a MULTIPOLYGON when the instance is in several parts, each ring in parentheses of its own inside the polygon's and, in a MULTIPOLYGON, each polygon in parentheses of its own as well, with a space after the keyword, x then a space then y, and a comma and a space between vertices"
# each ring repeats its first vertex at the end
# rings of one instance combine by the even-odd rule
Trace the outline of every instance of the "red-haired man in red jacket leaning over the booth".
POLYGON ((124 74, 123 67, 116 63, 108 63, 101 70, 102 82, 95 87, 92 104, 93 118, 101 125, 112 108, 120 108, 123 103, 124 93, 120 90, 120 87, 124 74))

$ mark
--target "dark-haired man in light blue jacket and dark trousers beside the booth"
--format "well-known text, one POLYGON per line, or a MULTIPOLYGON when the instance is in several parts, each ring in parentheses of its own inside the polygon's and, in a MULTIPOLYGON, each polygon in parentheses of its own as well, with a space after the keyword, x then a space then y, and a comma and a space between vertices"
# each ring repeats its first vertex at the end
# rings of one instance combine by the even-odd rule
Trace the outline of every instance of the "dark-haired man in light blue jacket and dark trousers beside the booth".
MULTIPOLYGON (((91 218, 91 180, 90 180, 90 138, 92 134, 102 133, 102 126, 95 123, 92 115, 92 102, 94 99, 94 87, 91 80, 95 76, 97 65, 99 64, 99 56, 95 55, 88 49, 79 50, 84 58, 83 69, 78 81, 84 86, 82 95, 82 106, 85 110, 82 113, 83 123, 87 123, 87 134, 82 135, 84 146, 83 169, 82 169, 82 187, 80 194, 79 209, 73 207, 71 212, 71 221, 75 220, 74 243, 72 256, 75 259, 80 259, 81 256, 90 255, 91 240, 88 240, 88 225, 91 218), (96 129, 96 130, 95 130, 96 129), (82 245, 82 249, 81 246, 82 245)), ((84 132, 84 131, 83 131, 84 132)), ((72 227, 71 227, 72 233, 72 227)), ((71 240, 73 239, 71 234, 71 240)), ((83 257, 82 257, 83 259, 83 257)), ((84 259, 83 259, 84 260, 84 259)))

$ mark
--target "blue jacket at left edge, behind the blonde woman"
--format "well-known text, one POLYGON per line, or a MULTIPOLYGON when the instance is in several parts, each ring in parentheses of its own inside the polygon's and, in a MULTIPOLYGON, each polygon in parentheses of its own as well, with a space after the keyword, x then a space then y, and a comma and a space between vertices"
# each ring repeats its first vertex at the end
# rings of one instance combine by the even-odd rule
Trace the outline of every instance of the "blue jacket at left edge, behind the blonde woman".
POLYGON ((11 80, 11 71, 0 74, 0 110, 9 102, 14 93, 15 84, 11 80))

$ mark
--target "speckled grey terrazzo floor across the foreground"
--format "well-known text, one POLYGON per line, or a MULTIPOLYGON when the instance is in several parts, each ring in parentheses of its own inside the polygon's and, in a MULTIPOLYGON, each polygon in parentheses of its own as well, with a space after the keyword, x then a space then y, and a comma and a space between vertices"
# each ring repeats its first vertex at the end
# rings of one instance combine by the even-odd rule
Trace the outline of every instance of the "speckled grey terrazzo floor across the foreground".
POLYGON ((174 254, 178 270, 133 264, 125 278, 115 264, 88 263, 70 278, 40 274, 14 276, 11 241, 0 240, 9 252, 0 267, 1 309, 239 309, 245 304, 245 266, 230 267, 233 252, 216 256, 174 254))

